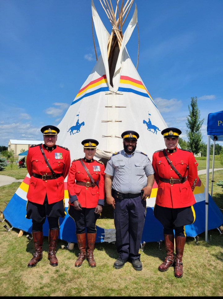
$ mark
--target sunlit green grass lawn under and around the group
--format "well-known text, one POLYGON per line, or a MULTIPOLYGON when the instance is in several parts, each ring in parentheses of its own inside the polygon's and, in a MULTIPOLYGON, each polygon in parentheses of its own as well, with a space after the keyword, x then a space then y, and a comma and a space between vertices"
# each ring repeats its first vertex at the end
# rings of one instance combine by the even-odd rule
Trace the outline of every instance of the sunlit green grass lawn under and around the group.
MULTIPOLYGON (((15 169, 15 172, 18 173, 20 170, 15 169)), ((27 170, 25 171, 27 173, 27 170)), ((215 171, 215 181, 222 179, 222 176, 223 171, 215 171)), ((199 177, 205 185, 206 175, 199 177)), ((19 185, 20 183, 12 183, 0 187, 0 210, 4 210, 5 201, 11 199, 19 185)), ((213 200, 223 208, 222 188, 215 183, 213 200)), ((186 239, 183 256, 184 275, 178 279, 174 277, 173 267, 167 272, 158 271, 158 266, 165 259, 165 249, 162 244, 162 250, 159 250, 157 242, 146 243, 144 251, 140 252, 143 269, 135 271, 130 263, 126 263, 122 269, 114 269, 113 263, 118 258, 116 247, 106 242, 95 245, 94 258, 97 263, 95 268, 90 268, 86 260, 81 267, 76 268, 74 263, 79 252, 77 244, 73 250, 62 249, 63 245, 67 246, 67 242, 58 240, 59 265, 52 267, 47 259, 48 240, 44 237, 42 261, 36 267, 28 268, 27 264, 33 254, 32 241, 28 241, 25 233, 18 238, 17 229, 7 232, 3 227, 4 224, 7 222, 0 222, 0 296, 2 297, 222 297, 223 295, 221 283, 223 235, 217 229, 208 231, 209 242, 205 242, 205 233, 199 235, 198 243, 194 238, 186 239)), ((105 205, 97 225, 105 228, 114 227, 111 206, 105 205)))

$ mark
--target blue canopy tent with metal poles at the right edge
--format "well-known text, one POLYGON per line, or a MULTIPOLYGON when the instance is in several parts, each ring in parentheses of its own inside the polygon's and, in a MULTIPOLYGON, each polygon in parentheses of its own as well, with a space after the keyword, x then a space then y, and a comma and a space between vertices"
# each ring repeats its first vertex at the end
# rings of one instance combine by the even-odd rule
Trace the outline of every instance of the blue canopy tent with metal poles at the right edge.
MULTIPOLYGON (((206 172, 206 194, 205 194, 205 241, 208 242, 208 190, 209 190, 209 159, 210 159, 210 141, 214 141, 213 162, 212 162, 212 189, 214 178, 214 155, 215 141, 223 141, 223 111, 208 114, 208 143, 207 143, 207 172, 206 172)), ((211 189, 211 196, 212 196, 211 189)))

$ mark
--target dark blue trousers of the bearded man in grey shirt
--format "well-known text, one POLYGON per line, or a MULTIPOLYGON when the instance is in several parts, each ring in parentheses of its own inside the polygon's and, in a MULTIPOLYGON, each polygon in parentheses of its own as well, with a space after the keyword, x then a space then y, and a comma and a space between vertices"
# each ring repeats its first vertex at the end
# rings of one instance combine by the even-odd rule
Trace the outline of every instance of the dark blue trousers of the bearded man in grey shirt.
POLYGON ((140 258, 145 217, 146 201, 141 196, 123 200, 115 198, 116 247, 121 259, 132 261, 140 258))

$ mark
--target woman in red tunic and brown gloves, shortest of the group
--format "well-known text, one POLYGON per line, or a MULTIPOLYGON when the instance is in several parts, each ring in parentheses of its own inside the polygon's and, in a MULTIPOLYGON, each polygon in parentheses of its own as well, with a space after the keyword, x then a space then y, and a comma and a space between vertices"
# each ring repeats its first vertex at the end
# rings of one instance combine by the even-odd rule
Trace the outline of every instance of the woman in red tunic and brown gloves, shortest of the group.
POLYGON ((80 267, 87 258, 90 267, 95 267, 94 244, 96 221, 104 205, 104 164, 93 159, 98 141, 85 139, 85 158, 73 160, 68 174, 68 214, 76 225, 77 244, 80 250, 75 267, 80 267), (87 231, 87 256, 86 234, 87 231))

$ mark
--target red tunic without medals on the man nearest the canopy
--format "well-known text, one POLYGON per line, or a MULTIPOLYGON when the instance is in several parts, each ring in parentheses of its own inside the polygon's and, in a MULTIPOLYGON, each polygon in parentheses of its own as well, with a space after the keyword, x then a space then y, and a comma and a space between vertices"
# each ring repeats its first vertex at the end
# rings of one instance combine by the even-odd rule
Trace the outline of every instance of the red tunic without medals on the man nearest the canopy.
POLYGON ((165 151, 173 166, 182 177, 187 177, 188 180, 177 184, 160 181, 160 177, 179 179, 179 176, 167 162, 163 150, 155 152, 152 158, 152 166, 155 171, 155 180, 158 182, 156 204, 166 208, 184 208, 195 204, 193 190, 198 182, 198 162, 195 160, 193 153, 178 148, 173 153, 168 152, 167 149, 165 151))

